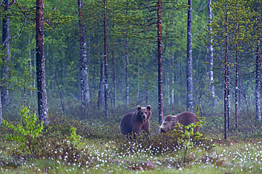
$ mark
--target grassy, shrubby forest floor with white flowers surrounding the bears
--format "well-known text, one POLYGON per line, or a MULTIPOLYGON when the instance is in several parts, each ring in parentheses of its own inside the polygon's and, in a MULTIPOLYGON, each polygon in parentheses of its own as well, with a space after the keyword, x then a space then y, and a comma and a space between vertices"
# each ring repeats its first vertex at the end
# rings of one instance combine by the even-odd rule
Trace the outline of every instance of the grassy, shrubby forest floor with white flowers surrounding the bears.
POLYGON ((2 139, 12 131, 0 125, 0 173, 262 173, 261 123, 244 112, 228 141, 223 140, 220 114, 210 113, 200 129, 209 140, 195 141, 186 163, 183 146, 171 141, 177 137, 159 137, 154 117, 152 136, 130 141, 120 134, 122 116, 117 115, 75 120, 50 112, 50 126, 38 139, 41 153, 34 158, 18 142, 2 139), (78 146, 66 139, 71 126, 81 136, 78 146))

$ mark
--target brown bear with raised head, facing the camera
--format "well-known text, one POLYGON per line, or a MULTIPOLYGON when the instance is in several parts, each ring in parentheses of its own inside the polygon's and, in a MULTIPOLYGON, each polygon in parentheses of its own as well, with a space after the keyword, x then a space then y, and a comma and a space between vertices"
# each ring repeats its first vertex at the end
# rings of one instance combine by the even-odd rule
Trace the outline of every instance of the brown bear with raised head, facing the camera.
POLYGON ((147 134, 149 132, 149 118, 151 115, 151 106, 148 105, 147 108, 142 108, 141 106, 137 106, 137 110, 135 112, 128 113, 123 117, 120 123, 121 132, 124 135, 139 134, 141 129, 144 129, 147 134))

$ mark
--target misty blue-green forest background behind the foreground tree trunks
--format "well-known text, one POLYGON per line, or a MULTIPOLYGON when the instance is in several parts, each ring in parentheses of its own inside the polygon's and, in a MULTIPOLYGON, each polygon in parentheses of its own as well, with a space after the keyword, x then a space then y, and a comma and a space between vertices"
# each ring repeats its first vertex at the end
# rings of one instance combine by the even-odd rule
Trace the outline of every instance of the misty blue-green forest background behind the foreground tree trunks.
MULTIPOLYGON (((2 1, 3 2, 3 1, 2 1)), ((1 2, 1 3, 2 3, 1 2)), ((45 3, 45 81, 49 112, 70 115, 77 120, 106 117, 103 96, 104 81, 104 9, 103 1, 83 1, 83 19, 89 101, 86 112, 81 105, 81 54, 78 1, 52 0, 45 3), (101 94, 101 95, 100 95, 101 94), (62 101, 62 103, 61 103, 62 101), (63 108, 64 107, 64 108, 63 108)), ((187 26, 188 1, 162 1, 161 34, 163 63, 164 115, 186 111, 187 105, 187 26)), ((8 66, 8 103, 2 92, 3 118, 16 120, 18 109, 28 105, 38 110, 35 60, 35 1, 9 1, 8 12, 1 8, 1 18, 10 16, 8 66)), ((207 25, 207 0, 193 1, 193 111, 200 105, 205 117, 224 113, 224 65, 229 66, 232 123, 235 103, 238 110, 256 117, 256 81, 258 36, 261 35, 261 1, 228 1, 225 20, 224 1, 212 1, 212 24, 207 25), (237 18, 239 16, 239 18, 237 18), (208 32, 212 27, 212 34, 208 32), (225 27, 228 27, 228 62, 224 63, 225 27), (258 28, 258 29, 257 29, 258 28), (212 35, 212 42, 210 42, 212 35), (236 46, 236 43, 238 45, 236 46), (210 67, 208 45, 212 45, 213 67, 210 67), (236 50, 239 62, 236 63, 236 50), (236 70, 239 71, 236 91, 236 70), (210 81, 210 71, 213 81, 210 81), (212 95, 210 86, 214 86, 212 95), (245 98, 246 97, 246 98, 245 98)), ((1 6, 4 6, 1 4, 1 6)), ((106 1, 108 110, 109 117, 122 117, 137 105, 152 106, 157 119, 158 63, 156 1, 106 1), (127 64, 128 63, 128 64, 127 64), (128 71, 127 71, 128 67, 128 71), (128 74, 128 79, 127 79, 128 74), (128 88, 127 88, 128 86, 128 88), (127 91, 128 89, 128 91, 127 91), (121 111, 119 111, 121 110, 121 111)), ((3 25, 3 20, 0 20, 3 25)), ((3 29, 0 29, 0 33, 3 29)), ((4 41, 3 41, 4 43, 4 41)), ((4 45, 2 45, 4 47, 4 45)), ((4 50, 2 50, 4 52, 4 50)), ((261 50, 260 50, 261 54, 261 50)), ((6 55, 2 55, 2 59, 6 55)), ((4 62, 1 62, 4 64, 4 62)), ((4 65, 2 65, 4 67, 4 65)), ((3 69, 3 68, 2 68, 3 69)), ((2 73, 3 74, 3 73, 2 73)), ((3 76, 2 86, 6 84, 3 76)), ((259 86, 261 90, 261 86, 259 86)), ((260 99, 259 99, 260 100, 260 99)), ((260 109, 259 109, 260 110, 260 109)), ((261 118, 260 118, 261 120, 261 118)))

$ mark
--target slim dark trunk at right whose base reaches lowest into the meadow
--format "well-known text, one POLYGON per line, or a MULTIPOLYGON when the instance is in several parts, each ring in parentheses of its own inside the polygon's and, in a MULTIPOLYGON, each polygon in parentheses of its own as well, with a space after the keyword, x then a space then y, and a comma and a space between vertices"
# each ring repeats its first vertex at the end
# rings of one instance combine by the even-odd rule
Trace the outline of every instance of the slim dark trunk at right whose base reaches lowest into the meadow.
POLYGON ((228 59, 228 31, 227 31, 227 0, 226 0, 226 51, 224 56, 224 139, 227 141, 227 59, 228 59))

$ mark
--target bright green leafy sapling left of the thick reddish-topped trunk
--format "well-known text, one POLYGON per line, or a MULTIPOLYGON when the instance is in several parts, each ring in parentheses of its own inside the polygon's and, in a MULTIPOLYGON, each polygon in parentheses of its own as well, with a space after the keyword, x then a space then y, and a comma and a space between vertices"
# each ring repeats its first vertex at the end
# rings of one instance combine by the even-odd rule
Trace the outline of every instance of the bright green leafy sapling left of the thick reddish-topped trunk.
POLYGON ((14 134, 7 134, 5 138, 19 142, 19 149, 23 153, 35 156, 35 150, 38 148, 38 137, 42 129, 44 129, 43 123, 37 124, 38 117, 36 113, 30 113, 30 110, 25 106, 21 108, 20 114, 22 120, 18 125, 3 120, 3 124, 14 132, 14 134))

